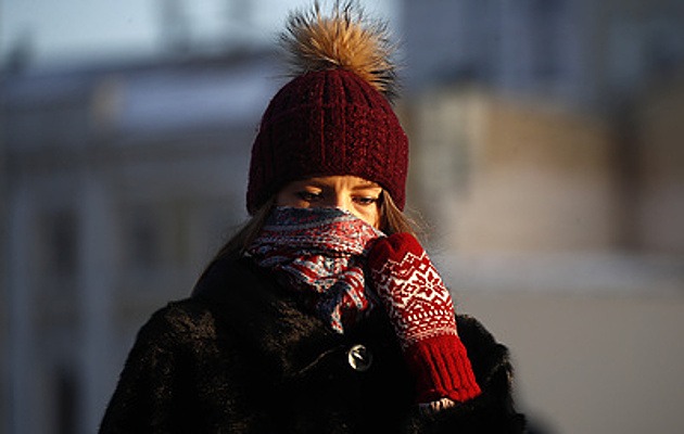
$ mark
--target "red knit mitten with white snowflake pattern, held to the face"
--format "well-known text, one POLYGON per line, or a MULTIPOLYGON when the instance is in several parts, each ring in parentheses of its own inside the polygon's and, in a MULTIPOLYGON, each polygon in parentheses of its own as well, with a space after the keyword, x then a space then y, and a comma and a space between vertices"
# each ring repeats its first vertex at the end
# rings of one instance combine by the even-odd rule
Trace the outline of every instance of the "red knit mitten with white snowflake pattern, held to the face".
POLYGON ((466 347, 458 339, 452 297, 418 240, 408 233, 380 239, 368 265, 416 376, 418 403, 465 401, 479 395, 466 347))

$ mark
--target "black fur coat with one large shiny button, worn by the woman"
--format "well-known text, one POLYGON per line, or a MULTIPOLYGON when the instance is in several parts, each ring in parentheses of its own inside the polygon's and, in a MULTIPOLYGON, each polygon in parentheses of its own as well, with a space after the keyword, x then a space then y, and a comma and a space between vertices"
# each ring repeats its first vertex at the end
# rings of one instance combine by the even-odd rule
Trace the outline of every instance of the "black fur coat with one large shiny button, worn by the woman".
POLYGON ((221 260, 142 327, 100 432, 523 432, 507 349, 472 318, 458 332, 483 393, 425 417, 381 309, 341 335, 249 259, 221 260))

